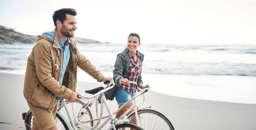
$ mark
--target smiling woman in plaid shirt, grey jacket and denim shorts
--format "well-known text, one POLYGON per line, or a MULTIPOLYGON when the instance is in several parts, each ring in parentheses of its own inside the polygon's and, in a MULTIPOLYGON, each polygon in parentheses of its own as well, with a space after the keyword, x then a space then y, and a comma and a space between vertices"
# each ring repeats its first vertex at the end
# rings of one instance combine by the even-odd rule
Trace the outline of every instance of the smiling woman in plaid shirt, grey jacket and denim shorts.
MULTIPOLYGON (((118 108, 132 98, 134 86, 133 84, 129 84, 128 81, 134 81, 138 84, 139 88, 145 88, 141 78, 144 55, 137 50, 139 46, 139 35, 136 33, 131 33, 127 40, 126 49, 117 55, 113 70, 113 80, 117 85, 115 97, 119 105, 118 108)), ((133 101, 129 102, 124 108, 118 111, 116 118, 119 118, 127 108, 130 108, 130 106, 133 105, 133 103, 133 101)), ((131 112, 132 111, 130 111, 127 115, 129 115, 131 112)))

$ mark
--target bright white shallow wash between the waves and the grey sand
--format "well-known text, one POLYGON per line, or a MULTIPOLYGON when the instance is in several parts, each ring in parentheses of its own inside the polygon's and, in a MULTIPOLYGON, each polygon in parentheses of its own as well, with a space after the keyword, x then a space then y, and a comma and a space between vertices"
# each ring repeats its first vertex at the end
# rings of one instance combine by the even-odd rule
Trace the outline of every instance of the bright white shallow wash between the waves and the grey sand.
MULTIPOLYGON (((0 70, 0 74, 25 75, 25 70, 0 70)), ((105 76, 112 72, 102 71, 105 76)), ((97 82, 90 75, 78 69, 78 82, 97 82)), ((256 77, 223 75, 168 75, 143 74, 144 84, 151 86, 151 91, 169 96, 199 99, 216 102, 256 104, 256 77), (160 81, 160 82, 159 82, 160 81), (215 83, 216 82, 216 83, 215 83), (217 95, 217 96, 216 96, 217 95)))

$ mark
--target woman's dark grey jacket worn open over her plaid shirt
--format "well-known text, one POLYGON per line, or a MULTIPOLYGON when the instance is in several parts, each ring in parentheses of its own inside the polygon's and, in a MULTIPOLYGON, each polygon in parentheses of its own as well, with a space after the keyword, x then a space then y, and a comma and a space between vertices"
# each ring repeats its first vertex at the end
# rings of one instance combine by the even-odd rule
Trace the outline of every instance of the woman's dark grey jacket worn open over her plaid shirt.
MULTIPOLYGON (((138 53, 140 54, 140 61, 143 62, 144 55, 139 51, 138 53)), ((128 74, 128 69, 130 65, 129 58, 130 53, 128 49, 124 50, 123 52, 117 55, 117 59, 113 70, 113 80, 118 87, 121 86, 120 79, 125 78, 128 74)), ((139 75, 137 83, 143 84, 141 75, 139 75)))

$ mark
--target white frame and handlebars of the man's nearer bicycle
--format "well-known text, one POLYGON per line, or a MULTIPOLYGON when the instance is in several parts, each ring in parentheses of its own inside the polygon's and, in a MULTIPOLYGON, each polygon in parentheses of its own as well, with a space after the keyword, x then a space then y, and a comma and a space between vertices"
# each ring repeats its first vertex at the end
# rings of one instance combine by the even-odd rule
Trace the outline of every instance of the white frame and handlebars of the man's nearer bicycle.
MULTIPOLYGON (((107 103, 107 99, 106 99, 106 97, 105 97, 105 95, 104 95, 104 92, 106 92, 107 90, 112 89, 113 87, 114 87, 114 83, 112 83, 112 86, 107 87, 107 88, 104 89, 104 90, 100 90, 98 93, 95 93, 95 94, 92 95, 92 96, 83 96, 83 95, 78 96, 79 98, 83 98, 83 99, 92 99, 92 98, 95 98, 95 99, 96 99, 96 97, 97 97, 98 95, 100 95, 100 101, 101 101, 100 118, 99 118, 99 119, 94 119, 94 120, 97 120, 97 124, 96 124, 94 127, 84 126, 84 125, 79 126, 79 127, 81 127, 81 128, 85 128, 85 127, 86 127, 86 130, 94 130, 94 129, 96 129, 96 130, 101 130, 101 129, 107 124, 107 122, 111 120, 111 121, 110 121, 111 126, 108 128, 108 130, 110 130, 111 127, 113 128, 113 130, 116 130, 115 125, 120 124, 120 123, 122 123, 122 122, 129 122, 129 121, 130 121, 130 119, 120 119, 120 120, 117 120, 116 118, 114 118, 114 115, 113 115, 113 113, 112 113, 112 111, 111 111, 111 109, 110 109, 110 107, 109 107, 109 105, 108 105, 108 103, 107 103), (100 121, 101 121, 101 119, 102 119, 102 115, 103 115, 103 106, 104 106, 103 104, 105 104, 109 116, 108 116, 108 118, 104 121, 104 123, 99 126, 100 121), (99 126, 99 127, 98 127, 98 126, 99 126)), ((97 100, 96 100, 96 101, 97 101, 97 100)), ((64 105, 64 107, 65 107, 65 110, 66 110, 66 112, 67 112, 67 114, 68 114, 68 118, 69 118, 69 121, 70 121, 71 126, 73 127, 73 130, 77 130, 77 129, 76 129, 76 126, 75 126, 75 124, 74 124, 74 121, 72 120, 71 115, 70 115, 70 113, 69 113, 69 111, 68 111, 68 107, 67 107, 66 102, 62 100, 62 103, 63 103, 63 105, 64 105)), ((63 115, 63 114, 62 114, 62 115, 63 115)), ((94 120, 90 120, 90 121, 94 121, 94 120)), ((80 125, 81 125, 81 124, 80 124, 80 125)), ((69 126, 69 127, 70 127, 70 126, 69 126)))

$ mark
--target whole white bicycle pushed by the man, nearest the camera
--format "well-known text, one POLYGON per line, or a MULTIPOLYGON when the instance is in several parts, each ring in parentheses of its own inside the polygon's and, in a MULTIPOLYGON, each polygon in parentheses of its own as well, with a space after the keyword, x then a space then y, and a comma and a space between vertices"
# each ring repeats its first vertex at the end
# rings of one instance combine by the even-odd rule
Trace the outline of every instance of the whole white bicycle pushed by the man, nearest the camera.
MULTIPOLYGON (((106 82, 104 83, 106 84, 106 82)), ((57 124, 57 127, 58 127, 58 130, 77 130, 78 129, 82 129, 82 130, 101 130, 106 124, 108 121, 110 121, 110 124, 111 126, 107 129, 107 130, 144 130, 143 128, 141 127, 138 127, 134 124, 128 124, 127 122, 130 121, 130 119, 116 119, 114 118, 113 116, 113 113, 107 103, 107 99, 104 95, 104 92, 106 92, 107 90, 110 90, 114 87, 114 83, 110 83, 109 86, 107 88, 104 89, 104 87, 97 87, 97 88, 94 88, 92 90, 87 90, 87 93, 90 93, 90 94, 93 94, 92 96, 83 96, 83 95, 78 95, 78 98, 82 98, 82 99, 92 99, 92 98, 97 98, 98 95, 100 95, 100 102, 101 102, 101 112, 100 112, 100 118, 99 120, 97 121, 97 124, 94 125, 93 124, 93 120, 92 120, 92 115, 90 113, 91 110, 89 110, 89 108, 85 107, 86 104, 84 104, 83 101, 79 101, 77 103, 79 104, 83 104, 82 105, 82 108, 85 108, 87 111, 84 113, 84 111, 82 111, 80 114, 80 116, 78 117, 74 117, 74 119, 78 119, 79 118, 84 118, 84 115, 88 115, 89 116, 89 121, 87 121, 87 123, 89 123, 90 125, 85 125, 84 123, 83 124, 79 124, 78 122, 76 122, 76 120, 74 120, 70 114, 70 111, 68 110, 68 106, 67 106, 67 103, 68 104, 71 104, 73 105, 73 103, 69 103, 68 100, 62 100, 60 101, 60 105, 58 108, 58 111, 56 113, 56 116, 55 116, 55 121, 56 121, 56 124, 57 124), (103 124, 100 125, 100 121, 102 119, 102 115, 103 115, 103 104, 105 105, 105 107, 107 108, 107 111, 108 111, 108 118, 106 121, 104 121, 103 124), (66 111, 66 114, 68 115, 68 118, 65 117, 65 115, 63 114, 62 111, 60 111, 61 108, 65 108, 65 111, 66 111), (69 119, 69 120, 68 120, 69 119), (98 127, 99 126, 99 127, 98 127)), ((73 109, 74 110, 74 109, 73 109)), ((80 110, 81 111, 81 110, 80 110)), ((74 111, 73 111, 73 114, 74 114, 74 111)), ((32 128, 32 121, 33 121, 33 116, 32 116, 32 112, 29 110, 27 113, 23 113, 23 120, 25 120, 25 127, 26 127, 26 130, 31 130, 32 128)))

